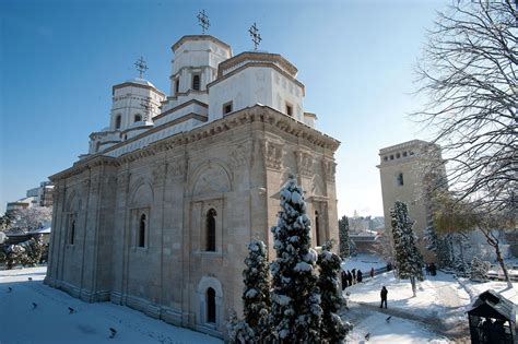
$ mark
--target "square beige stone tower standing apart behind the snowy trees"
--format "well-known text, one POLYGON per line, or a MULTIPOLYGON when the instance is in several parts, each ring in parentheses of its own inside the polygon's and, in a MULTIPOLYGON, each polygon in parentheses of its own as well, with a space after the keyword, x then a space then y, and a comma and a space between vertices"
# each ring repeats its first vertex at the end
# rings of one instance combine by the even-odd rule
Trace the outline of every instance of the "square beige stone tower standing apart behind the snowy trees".
POLYGON ((409 215, 415 221, 413 229, 419 237, 419 247, 425 261, 433 261, 433 252, 426 249, 422 239, 425 228, 432 225, 433 207, 431 188, 433 185, 446 185, 446 168, 440 146, 421 140, 413 140, 379 151, 379 175, 384 199, 385 228, 391 230, 390 210, 396 201, 407 203, 409 215), (427 167, 434 166, 431 171, 427 167), (429 182, 428 182, 429 181, 429 182), (435 181, 434 183, 432 183, 435 181))

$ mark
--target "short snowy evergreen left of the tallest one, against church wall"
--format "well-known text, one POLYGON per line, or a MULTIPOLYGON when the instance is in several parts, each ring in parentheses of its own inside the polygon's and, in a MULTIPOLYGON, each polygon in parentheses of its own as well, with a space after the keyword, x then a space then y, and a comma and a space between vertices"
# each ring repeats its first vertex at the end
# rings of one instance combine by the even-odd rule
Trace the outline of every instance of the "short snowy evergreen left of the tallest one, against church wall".
POLYGON ((245 322, 256 333, 256 342, 261 343, 271 334, 270 266, 267 246, 262 241, 252 240, 248 245, 245 264, 246 269, 243 271, 245 322))

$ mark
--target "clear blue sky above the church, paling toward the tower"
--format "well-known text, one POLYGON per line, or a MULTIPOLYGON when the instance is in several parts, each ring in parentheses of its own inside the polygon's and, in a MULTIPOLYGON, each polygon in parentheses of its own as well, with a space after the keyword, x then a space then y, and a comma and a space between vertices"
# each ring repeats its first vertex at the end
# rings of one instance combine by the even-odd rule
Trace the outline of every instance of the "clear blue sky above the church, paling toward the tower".
POLYGON ((169 92, 170 46, 209 34, 233 47, 279 52, 298 68, 305 110, 342 142, 337 153, 339 215, 382 215, 380 147, 428 139, 409 120, 413 68, 444 1, 44 1, 0 2, 0 213, 5 202, 87 151, 89 134, 107 126, 111 86, 137 76, 169 92))

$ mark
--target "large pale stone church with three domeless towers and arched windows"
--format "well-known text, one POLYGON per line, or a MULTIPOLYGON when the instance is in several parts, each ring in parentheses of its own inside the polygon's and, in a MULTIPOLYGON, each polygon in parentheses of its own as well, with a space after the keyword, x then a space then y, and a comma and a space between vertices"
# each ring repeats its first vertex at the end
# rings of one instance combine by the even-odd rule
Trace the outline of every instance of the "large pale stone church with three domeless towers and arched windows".
MULTIPOLYGON (((243 310, 247 244, 268 246, 290 174, 306 190, 315 248, 338 241, 334 152, 315 129, 284 57, 233 55, 210 35, 172 47, 168 95, 137 78, 113 86, 108 126, 50 177, 45 283, 223 336, 243 310)), ((141 61, 142 62, 142 61, 141 61)))

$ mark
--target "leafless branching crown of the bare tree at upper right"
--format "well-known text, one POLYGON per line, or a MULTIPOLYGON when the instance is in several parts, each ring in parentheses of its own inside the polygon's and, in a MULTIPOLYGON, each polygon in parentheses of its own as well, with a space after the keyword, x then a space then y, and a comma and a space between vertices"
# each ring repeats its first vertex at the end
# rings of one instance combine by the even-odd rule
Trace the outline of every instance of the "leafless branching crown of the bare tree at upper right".
POLYGON ((428 103, 414 118, 443 147, 445 182, 490 212, 516 213, 517 19, 515 0, 455 1, 438 13, 416 71, 428 103))

